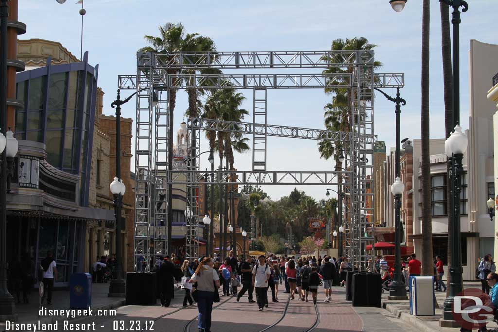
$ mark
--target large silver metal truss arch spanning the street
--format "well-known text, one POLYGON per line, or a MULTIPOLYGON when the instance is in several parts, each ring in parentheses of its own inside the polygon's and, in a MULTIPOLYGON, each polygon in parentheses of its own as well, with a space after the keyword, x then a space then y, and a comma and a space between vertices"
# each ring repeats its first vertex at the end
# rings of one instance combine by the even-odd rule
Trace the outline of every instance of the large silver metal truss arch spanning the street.
POLYGON ((374 73, 372 50, 347 51, 247 51, 247 52, 138 52, 136 75, 118 76, 120 89, 136 90, 135 152, 135 271, 149 271, 158 256, 167 254, 168 192, 173 185, 187 191, 186 255, 199 256, 199 185, 216 184, 342 185, 344 193, 345 255, 366 268, 373 244, 373 88, 403 87, 404 75, 374 73), (275 69, 330 68, 337 74, 197 74, 203 68, 275 69), (186 75, 183 69, 189 69, 186 75), (146 91, 140 92, 144 88, 146 91), (253 121, 233 122, 190 118, 187 123, 186 169, 169 170, 172 152, 168 132, 168 94, 178 89, 253 90, 253 121), (343 88, 348 91, 351 127, 348 132, 269 125, 268 89, 343 88), (158 96, 153 108, 152 96, 158 96), (252 170, 201 171, 200 133, 222 130, 252 135, 252 170), (345 151, 341 171, 269 171, 266 169, 267 136, 331 140, 345 151), (152 144, 152 141, 154 144, 152 144), (153 162, 152 162, 153 160, 153 162), (146 266, 141 264, 141 259, 146 266))

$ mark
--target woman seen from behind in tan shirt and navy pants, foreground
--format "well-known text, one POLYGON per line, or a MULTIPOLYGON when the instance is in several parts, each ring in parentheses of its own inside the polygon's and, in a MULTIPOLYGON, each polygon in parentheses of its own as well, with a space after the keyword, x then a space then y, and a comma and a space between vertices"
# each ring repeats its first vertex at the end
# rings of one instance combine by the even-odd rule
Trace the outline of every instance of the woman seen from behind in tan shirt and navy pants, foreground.
POLYGON ((215 301, 215 291, 220 288, 220 277, 212 266, 213 259, 204 257, 189 281, 191 284, 197 282, 195 291, 198 292, 197 308, 199 316, 197 326, 199 332, 211 331, 211 311, 215 301))

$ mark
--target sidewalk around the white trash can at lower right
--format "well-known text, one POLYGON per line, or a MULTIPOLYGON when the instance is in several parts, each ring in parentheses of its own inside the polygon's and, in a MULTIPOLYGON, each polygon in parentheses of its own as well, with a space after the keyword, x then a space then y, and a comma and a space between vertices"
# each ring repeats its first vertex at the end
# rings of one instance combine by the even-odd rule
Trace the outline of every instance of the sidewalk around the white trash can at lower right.
MULTIPOLYGON (((478 288, 481 289, 480 282, 464 282, 464 288, 478 288)), ((436 302, 439 308, 436 308, 435 316, 413 316, 410 314, 410 301, 409 294, 407 301, 389 301, 387 300, 387 295, 389 292, 384 292, 382 294, 382 308, 392 313, 397 318, 402 321, 409 323, 416 329, 423 332, 457 332, 459 328, 441 328, 439 326, 439 320, 442 318, 443 303, 446 300, 446 292, 436 292, 436 302)), ((495 323, 489 323, 488 329, 496 328, 495 323)))

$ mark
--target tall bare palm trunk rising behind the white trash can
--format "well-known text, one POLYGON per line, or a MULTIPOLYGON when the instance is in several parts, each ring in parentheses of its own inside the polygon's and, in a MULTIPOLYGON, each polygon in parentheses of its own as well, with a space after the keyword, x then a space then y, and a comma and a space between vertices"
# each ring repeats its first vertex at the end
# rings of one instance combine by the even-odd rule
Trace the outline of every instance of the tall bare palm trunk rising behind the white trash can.
POLYGON ((429 34, 430 0, 422 2, 422 71, 421 71, 421 170, 422 170, 422 275, 433 275, 431 164, 429 133, 429 34))

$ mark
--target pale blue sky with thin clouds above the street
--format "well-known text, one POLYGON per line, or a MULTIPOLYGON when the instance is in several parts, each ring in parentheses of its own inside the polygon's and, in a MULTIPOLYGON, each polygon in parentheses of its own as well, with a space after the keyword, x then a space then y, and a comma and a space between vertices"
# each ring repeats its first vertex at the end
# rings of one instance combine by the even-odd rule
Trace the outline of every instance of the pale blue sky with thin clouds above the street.
MULTIPOLYGON (((58 4, 55 0, 20 0, 19 20, 27 24, 21 39, 42 38, 59 41, 73 54, 80 54, 81 19, 76 0, 58 4)), ((468 128, 469 114, 469 40, 498 43, 491 26, 498 3, 468 0, 470 9, 462 14, 460 28, 460 102, 461 125, 468 128)), ((401 136, 420 137, 420 50, 422 1, 409 0, 405 9, 394 12, 388 0, 329 1, 170 1, 170 0, 85 0, 83 50, 89 62, 99 64, 99 86, 105 92, 104 113, 112 114, 117 76, 135 73, 135 52, 145 45, 145 34, 156 35, 157 26, 182 22, 188 32, 213 38, 218 50, 324 50, 336 38, 363 36, 375 48, 383 63, 381 72, 404 72, 402 97, 407 105, 401 113, 401 136)), ((439 3, 431 1, 430 112, 431 137, 444 135, 443 83, 441 68, 441 31, 439 3)), ((261 70, 258 71, 262 73, 261 70)), ((316 72, 300 70, 301 73, 316 72)), ((240 72, 242 73, 242 71, 240 72)), ((490 73, 489 81, 491 87, 490 73)), ((488 78, 485 78, 488 79, 488 78)), ((245 108, 251 111, 252 91, 245 108)), ((394 94, 394 91, 388 91, 394 94)), ((123 94, 125 95, 125 94, 123 94)), ((319 90, 270 90, 268 123, 323 128, 323 106, 330 100, 319 90)), ((123 115, 134 117, 134 103, 123 115)), ((180 123, 187 108, 184 92, 177 97, 175 123, 180 123)), ((252 118, 252 115, 250 116, 252 118)), ((248 119, 249 121, 249 119, 248 119)), ((391 102, 378 96, 374 110, 375 132, 387 148, 394 146, 394 110, 391 102)), ((176 129, 176 128, 175 128, 176 129)), ((203 151, 207 144, 203 143, 203 151)), ((207 156, 204 155, 204 156, 207 156)), ((328 170, 332 161, 321 160, 316 142, 268 138, 268 170, 328 170)), ((235 167, 251 168, 251 153, 236 156, 235 167)), ((206 160, 201 167, 209 167, 206 160)), ((325 198, 324 187, 302 186, 317 200, 325 198)), ((272 198, 288 195, 289 186, 265 186, 272 198)))

